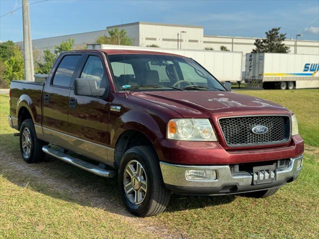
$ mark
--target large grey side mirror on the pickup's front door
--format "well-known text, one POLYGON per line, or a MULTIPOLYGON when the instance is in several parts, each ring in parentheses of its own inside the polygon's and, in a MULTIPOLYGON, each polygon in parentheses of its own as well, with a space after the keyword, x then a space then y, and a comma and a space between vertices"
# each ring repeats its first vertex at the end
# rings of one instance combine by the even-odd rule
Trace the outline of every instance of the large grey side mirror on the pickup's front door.
POLYGON ((98 88, 97 80, 77 78, 74 80, 74 95, 77 96, 104 96, 106 88, 98 88))

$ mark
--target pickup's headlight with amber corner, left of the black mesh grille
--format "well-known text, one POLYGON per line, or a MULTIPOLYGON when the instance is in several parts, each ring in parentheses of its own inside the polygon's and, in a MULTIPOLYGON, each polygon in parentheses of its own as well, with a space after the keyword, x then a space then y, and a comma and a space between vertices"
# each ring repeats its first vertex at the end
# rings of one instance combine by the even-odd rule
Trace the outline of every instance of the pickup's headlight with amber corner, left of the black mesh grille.
POLYGON ((217 141, 209 119, 171 119, 167 138, 186 141, 217 141))

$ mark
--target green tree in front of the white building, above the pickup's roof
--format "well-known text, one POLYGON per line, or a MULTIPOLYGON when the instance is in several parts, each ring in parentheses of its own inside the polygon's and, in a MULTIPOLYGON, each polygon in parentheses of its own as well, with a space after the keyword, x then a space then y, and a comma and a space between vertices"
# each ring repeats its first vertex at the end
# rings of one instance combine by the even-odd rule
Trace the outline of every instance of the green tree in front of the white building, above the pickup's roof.
POLYGON ((127 36, 126 30, 119 28, 112 28, 108 30, 109 36, 100 36, 96 39, 98 44, 111 44, 111 45, 132 45, 132 40, 127 36))

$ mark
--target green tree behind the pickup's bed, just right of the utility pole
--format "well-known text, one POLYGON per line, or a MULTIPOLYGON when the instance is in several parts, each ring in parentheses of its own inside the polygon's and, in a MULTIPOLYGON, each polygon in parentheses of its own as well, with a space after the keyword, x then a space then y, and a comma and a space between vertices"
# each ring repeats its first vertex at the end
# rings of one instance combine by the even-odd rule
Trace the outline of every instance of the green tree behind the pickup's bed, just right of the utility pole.
POLYGON ((73 48, 73 44, 74 39, 68 38, 66 41, 62 41, 59 46, 55 45, 53 53, 49 49, 44 50, 43 62, 36 63, 38 70, 37 73, 49 74, 54 62, 56 61, 60 53, 63 51, 71 51, 73 48))

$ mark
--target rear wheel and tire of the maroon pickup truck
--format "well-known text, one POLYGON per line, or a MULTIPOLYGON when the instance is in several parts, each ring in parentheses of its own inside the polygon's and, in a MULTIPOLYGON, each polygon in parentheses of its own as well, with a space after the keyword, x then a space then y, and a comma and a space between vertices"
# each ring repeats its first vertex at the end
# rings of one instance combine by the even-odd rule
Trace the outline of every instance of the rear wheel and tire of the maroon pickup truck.
POLYGON ((45 144, 36 137, 32 119, 25 119, 20 126, 20 151, 22 158, 27 163, 42 161, 45 153, 42 146, 45 144))

